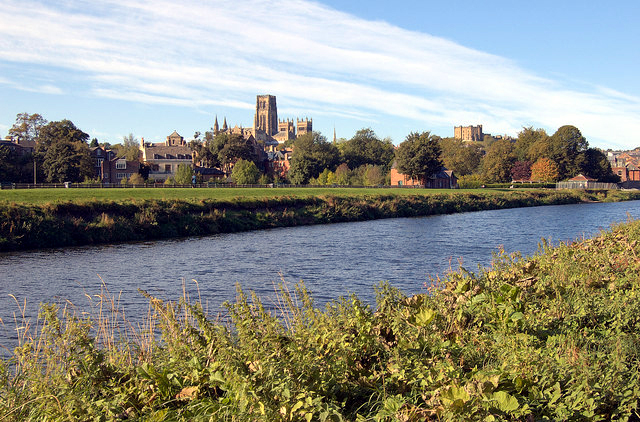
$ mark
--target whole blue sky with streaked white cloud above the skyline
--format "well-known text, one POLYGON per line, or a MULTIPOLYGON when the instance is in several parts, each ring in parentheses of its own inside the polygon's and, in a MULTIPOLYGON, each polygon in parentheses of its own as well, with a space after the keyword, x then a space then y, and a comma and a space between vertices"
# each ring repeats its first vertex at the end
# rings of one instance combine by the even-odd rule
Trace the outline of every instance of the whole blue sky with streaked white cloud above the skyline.
POLYGON ((329 140, 574 125, 640 146, 640 2, 3 0, 0 137, 18 113, 162 142, 253 126, 256 96, 329 140))

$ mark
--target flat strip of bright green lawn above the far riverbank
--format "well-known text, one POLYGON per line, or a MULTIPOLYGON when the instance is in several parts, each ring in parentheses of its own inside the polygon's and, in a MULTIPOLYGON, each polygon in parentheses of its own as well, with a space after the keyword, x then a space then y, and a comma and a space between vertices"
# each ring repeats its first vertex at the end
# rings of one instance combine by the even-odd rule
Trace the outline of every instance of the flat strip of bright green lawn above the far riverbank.
MULTIPOLYGON (((145 199, 228 200, 232 198, 274 198, 281 196, 430 195, 449 189, 364 189, 364 188, 70 188, 0 190, 0 202, 42 204, 66 201, 127 201, 145 199)), ((455 192, 460 192, 456 190, 455 192)))

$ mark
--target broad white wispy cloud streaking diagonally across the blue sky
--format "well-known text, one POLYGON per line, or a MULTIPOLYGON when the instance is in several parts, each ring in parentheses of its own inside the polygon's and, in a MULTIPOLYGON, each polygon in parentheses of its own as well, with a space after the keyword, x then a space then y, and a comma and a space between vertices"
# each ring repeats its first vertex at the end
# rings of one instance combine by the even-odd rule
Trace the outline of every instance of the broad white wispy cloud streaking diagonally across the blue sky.
POLYGON ((612 144, 640 127, 637 97, 571 88, 506 58, 311 1, 98 3, 5 0, 0 61, 69 69, 87 95, 149 104, 249 110, 247 99, 277 93, 359 122, 393 116, 510 133, 574 124, 612 144))

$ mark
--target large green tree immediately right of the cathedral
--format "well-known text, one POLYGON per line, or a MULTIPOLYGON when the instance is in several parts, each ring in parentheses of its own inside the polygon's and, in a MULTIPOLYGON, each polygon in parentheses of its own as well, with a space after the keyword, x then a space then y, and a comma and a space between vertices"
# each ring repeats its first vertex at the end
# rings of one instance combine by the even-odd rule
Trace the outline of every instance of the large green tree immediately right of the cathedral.
POLYGON ((327 138, 319 132, 307 133, 294 143, 289 180, 294 184, 306 184, 324 169, 335 169, 339 160, 338 148, 327 142, 327 138))

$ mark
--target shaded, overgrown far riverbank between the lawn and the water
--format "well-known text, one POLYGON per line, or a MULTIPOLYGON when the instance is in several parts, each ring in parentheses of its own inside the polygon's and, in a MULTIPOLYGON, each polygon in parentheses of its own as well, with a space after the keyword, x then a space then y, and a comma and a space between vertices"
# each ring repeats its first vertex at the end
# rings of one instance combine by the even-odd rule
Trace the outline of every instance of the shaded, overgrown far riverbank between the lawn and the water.
MULTIPOLYGON (((269 191, 269 189, 266 189, 269 191)), ((188 189, 187 189, 188 191, 188 189)), ((273 190, 271 190, 273 191, 273 190)), ((269 192, 270 193, 270 192, 269 192)), ((0 203, 0 251, 205 236, 275 227, 640 199, 638 192, 476 190, 414 194, 0 203)))

